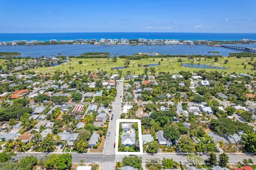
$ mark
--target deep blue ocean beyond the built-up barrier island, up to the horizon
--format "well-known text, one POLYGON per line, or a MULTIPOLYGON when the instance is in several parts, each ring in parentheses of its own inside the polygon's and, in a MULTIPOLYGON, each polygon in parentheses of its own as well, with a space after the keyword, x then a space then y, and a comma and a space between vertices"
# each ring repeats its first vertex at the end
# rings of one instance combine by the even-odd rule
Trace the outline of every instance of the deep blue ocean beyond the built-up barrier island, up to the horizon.
POLYGON ((76 40, 76 39, 176 39, 176 40, 256 40, 256 33, 178 33, 178 32, 82 32, 82 33, 0 33, 0 42, 14 40, 49 41, 52 39, 76 40))

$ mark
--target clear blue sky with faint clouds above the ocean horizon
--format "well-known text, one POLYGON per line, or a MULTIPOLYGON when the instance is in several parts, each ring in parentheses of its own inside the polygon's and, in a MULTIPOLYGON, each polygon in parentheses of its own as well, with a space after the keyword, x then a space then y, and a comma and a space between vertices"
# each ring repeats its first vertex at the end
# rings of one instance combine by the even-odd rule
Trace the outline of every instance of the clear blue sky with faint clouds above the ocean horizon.
POLYGON ((0 33, 255 33, 256 0, 0 0, 0 33))

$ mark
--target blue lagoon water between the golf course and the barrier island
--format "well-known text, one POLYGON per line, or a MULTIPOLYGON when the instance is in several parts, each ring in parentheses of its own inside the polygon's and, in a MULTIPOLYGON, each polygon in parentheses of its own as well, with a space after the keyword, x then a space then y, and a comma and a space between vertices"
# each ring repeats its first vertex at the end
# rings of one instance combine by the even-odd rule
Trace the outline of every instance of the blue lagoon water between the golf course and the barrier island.
MULTIPOLYGON (((256 44, 231 44, 242 47, 256 48, 256 44)), ((162 55, 222 55, 228 56, 229 52, 241 52, 224 47, 212 47, 206 45, 90 45, 90 44, 66 44, 66 45, 2 45, 2 52, 19 52, 21 57, 51 57, 61 53, 62 55, 80 55, 86 52, 109 52, 110 54, 133 55, 136 53, 160 53, 162 55), (218 51, 219 54, 208 53, 218 51)))

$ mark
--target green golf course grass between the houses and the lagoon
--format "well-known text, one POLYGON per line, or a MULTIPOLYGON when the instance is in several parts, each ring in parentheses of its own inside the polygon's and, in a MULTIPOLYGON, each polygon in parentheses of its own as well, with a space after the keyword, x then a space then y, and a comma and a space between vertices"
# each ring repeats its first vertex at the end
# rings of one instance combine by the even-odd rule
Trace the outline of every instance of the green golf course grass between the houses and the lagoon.
MULTIPOLYGON (((160 65, 154 66, 156 69, 156 74, 159 71, 164 72, 170 72, 170 73, 178 73, 179 71, 185 70, 185 71, 199 71, 201 69, 197 68, 185 68, 180 67, 181 63, 177 61, 178 58, 176 57, 170 57, 170 58, 162 58, 163 61, 161 61, 161 58, 148 58, 148 59, 140 59, 140 60, 131 60, 130 65, 126 69, 120 69, 122 70, 123 74, 126 74, 127 71, 130 71, 131 74, 142 74, 144 73, 145 67, 138 67, 138 63, 142 65, 146 64, 153 64, 161 62, 160 65), (155 61, 153 61, 153 59, 155 61), (133 67, 134 66, 134 67, 133 67)), ((186 57, 182 58, 182 63, 191 63, 192 60, 188 60, 186 57)), ((249 73, 251 65, 248 64, 248 61, 250 61, 250 57, 242 57, 242 58, 236 58, 236 57, 222 57, 219 58, 219 61, 215 62, 214 59, 211 59, 211 61, 204 61, 204 58, 201 58, 201 61, 194 60, 194 64, 208 64, 212 66, 218 66, 218 67, 228 67, 228 69, 205 69, 206 71, 219 71, 219 72, 227 72, 227 73, 249 73), (228 63, 224 65, 224 60, 228 59, 228 63), (244 65, 241 63, 244 62, 246 65, 246 69, 244 69, 244 65), (238 65, 237 65, 238 64, 238 65)), ((0 64, 3 63, 4 60, 0 60, 0 64)), ((254 62, 254 61, 252 61, 254 62)), ((118 73, 116 69, 111 70, 112 67, 123 67, 124 62, 123 59, 118 58, 117 62, 113 62, 112 59, 106 59, 106 58, 97 58, 97 59, 78 59, 78 58, 72 58, 72 61, 67 61, 66 63, 63 63, 61 65, 55 66, 55 67, 38 67, 37 69, 31 69, 32 71, 35 71, 36 73, 54 73, 56 70, 60 71, 68 71, 69 73, 75 73, 75 72, 82 72, 84 71, 92 71, 92 72, 98 72, 99 70, 107 71, 107 73, 118 73), (78 64, 79 61, 82 61, 82 64, 78 64), (74 69, 70 70, 70 67, 74 67, 74 69)), ((150 67, 148 67, 148 70, 150 67)), ((254 73, 255 71, 252 71, 254 73)), ((150 71, 148 72, 150 74, 150 71)))

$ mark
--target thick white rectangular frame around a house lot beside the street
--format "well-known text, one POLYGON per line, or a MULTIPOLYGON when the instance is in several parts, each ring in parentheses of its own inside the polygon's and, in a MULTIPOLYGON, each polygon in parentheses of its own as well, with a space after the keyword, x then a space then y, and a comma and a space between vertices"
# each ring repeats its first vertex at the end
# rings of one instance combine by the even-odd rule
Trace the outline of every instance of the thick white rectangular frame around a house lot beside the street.
POLYGON ((142 144, 142 132, 141 132, 141 122, 138 119, 117 119, 116 120, 116 148, 115 154, 118 155, 142 155, 143 154, 143 144, 142 144), (138 134, 139 134, 139 144, 140 144, 140 152, 118 152, 118 137, 119 137, 119 124, 123 123, 138 123, 138 134))

